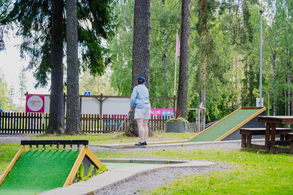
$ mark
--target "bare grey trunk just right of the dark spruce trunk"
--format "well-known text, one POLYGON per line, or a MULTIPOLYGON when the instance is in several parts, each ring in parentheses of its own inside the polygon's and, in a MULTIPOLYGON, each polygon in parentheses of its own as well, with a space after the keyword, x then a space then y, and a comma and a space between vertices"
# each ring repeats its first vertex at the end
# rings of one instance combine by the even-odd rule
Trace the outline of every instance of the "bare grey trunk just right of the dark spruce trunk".
POLYGON ((66 134, 82 134, 79 112, 79 67, 76 0, 66 0, 67 101, 66 134))

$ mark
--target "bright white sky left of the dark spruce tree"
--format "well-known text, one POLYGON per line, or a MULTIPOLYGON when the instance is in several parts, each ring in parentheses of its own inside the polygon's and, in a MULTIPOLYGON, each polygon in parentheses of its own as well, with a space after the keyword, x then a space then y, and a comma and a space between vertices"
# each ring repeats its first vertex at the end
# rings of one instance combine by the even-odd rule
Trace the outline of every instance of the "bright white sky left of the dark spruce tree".
MULTIPOLYGON (((7 39, 6 39, 7 40, 7 39)), ((8 89, 11 86, 11 84, 14 85, 15 89, 15 97, 13 97, 13 103, 20 105, 20 100, 18 97, 20 96, 18 92, 18 75, 20 70, 22 69, 22 66, 25 68, 28 66, 30 58, 26 56, 26 59, 21 60, 19 50, 15 45, 18 45, 21 43, 21 38, 13 38, 11 37, 6 43, 6 51, 0 51, 0 67, 4 73, 5 80, 8 83, 8 89)), ((48 81, 47 88, 39 88, 35 89, 34 83, 36 83, 35 78, 33 77, 32 71, 26 71, 25 72, 26 78, 28 80, 27 82, 27 91, 29 94, 50 94, 49 88, 51 85, 50 80, 48 81)), ((49 75, 50 78, 50 75, 49 75)))

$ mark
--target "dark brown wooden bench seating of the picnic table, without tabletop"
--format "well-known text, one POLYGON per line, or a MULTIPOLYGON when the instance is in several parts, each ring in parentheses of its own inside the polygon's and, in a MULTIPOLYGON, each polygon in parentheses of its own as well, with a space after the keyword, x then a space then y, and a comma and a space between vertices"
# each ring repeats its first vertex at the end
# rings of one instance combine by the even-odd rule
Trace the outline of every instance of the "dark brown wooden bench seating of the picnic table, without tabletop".
MULTIPOLYGON (((265 128, 239 128, 242 135, 241 147, 252 148, 251 136, 252 135, 265 135, 265 128)), ((289 145, 289 134, 292 129, 289 128, 276 128, 276 135, 280 135, 280 141, 276 141, 275 145, 289 145), (284 140, 285 139, 285 140, 284 140)), ((292 137, 293 139, 293 137, 292 137)), ((253 144, 253 148, 264 150, 264 145, 253 144)), ((292 146, 293 149, 293 146, 292 146)))

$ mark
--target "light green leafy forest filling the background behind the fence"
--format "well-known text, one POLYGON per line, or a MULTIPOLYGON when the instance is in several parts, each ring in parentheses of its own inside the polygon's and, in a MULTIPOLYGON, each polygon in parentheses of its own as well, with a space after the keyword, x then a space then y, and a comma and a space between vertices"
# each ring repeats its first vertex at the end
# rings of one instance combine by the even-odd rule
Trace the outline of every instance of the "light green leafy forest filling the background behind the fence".
MULTIPOLYGON (((259 97, 260 10, 263 14, 263 105, 270 115, 292 114, 291 56, 293 1, 194 1, 190 6, 188 108, 203 100, 206 122, 223 118, 241 106, 256 106, 259 97), (202 5, 205 4, 202 12, 202 5), (202 26, 204 28, 202 28, 202 26), (205 81, 205 82, 203 82, 205 81), (268 101, 269 93, 269 101, 268 101)), ((80 94, 130 96, 134 0, 115 6, 119 24, 115 37, 105 43, 115 60, 103 76, 86 69, 80 94)), ((150 96, 173 96, 176 30, 180 37, 181 1, 151 0, 150 96)), ((179 58, 177 60, 176 94, 179 58)), ((9 85, 0 70, 0 104, 8 108, 9 85), (1 76, 2 75, 2 76, 1 76)), ((65 90, 66 91, 66 90, 65 90)), ((168 108, 164 100, 151 100, 152 108, 168 108)), ((188 111, 194 122, 194 111, 188 111)))

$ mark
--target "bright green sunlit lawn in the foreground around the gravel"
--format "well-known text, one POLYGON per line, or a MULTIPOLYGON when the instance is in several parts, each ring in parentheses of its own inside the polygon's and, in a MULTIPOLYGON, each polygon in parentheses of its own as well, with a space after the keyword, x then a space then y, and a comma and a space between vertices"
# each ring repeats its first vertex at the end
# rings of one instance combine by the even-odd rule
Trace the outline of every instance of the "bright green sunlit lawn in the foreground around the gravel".
MULTIPOLYGON (((56 137, 53 138, 56 139, 56 137)), ((79 139, 84 138, 79 137, 79 139)), ((113 140, 117 141, 119 139, 113 140)), ((127 141, 127 138, 123 139, 123 141, 125 143, 131 142, 127 141)), ((19 144, 0 144, 0 158, 2 160, 0 163, 0 174, 3 173, 19 147, 19 144), (8 155, 6 155, 6 151, 8 155), (5 163, 5 160, 8 163, 5 163)), ((227 171, 176 176, 179 178, 178 180, 168 182, 166 187, 146 191, 146 194, 293 194, 292 154, 271 153, 251 149, 243 149, 241 151, 216 148, 191 150, 188 147, 176 150, 161 149, 156 152, 123 152, 122 150, 111 152, 101 150, 94 153, 98 158, 152 156, 166 159, 227 162, 231 164, 227 171)))

